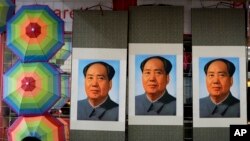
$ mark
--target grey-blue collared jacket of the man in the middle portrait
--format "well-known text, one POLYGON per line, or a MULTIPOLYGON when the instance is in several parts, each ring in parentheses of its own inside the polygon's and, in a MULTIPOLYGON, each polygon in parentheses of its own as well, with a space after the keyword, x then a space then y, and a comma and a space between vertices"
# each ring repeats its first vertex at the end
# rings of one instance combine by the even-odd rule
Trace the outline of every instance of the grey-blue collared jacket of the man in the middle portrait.
POLYGON ((151 103, 146 94, 135 97, 135 115, 176 115, 176 98, 167 90, 156 102, 151 103))

